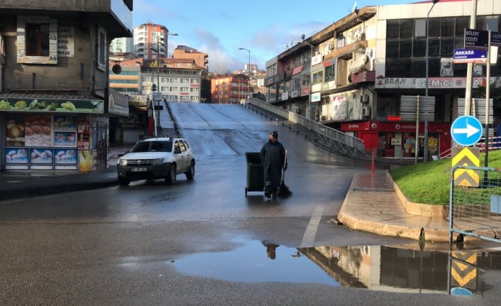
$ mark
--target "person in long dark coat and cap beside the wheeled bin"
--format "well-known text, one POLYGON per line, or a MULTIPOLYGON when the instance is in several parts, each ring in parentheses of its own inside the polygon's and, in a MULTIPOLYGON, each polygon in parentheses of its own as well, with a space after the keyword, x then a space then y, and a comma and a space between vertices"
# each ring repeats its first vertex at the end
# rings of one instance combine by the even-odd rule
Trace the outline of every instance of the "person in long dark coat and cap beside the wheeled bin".
POLYGON ((282 180, 282 169, 287 169, 285 163, 285 149, 278 141, 278 132, 272 131, 268 143, 261 148, 261 160, 263 161, 265 179, 265 197, 276 195, 277 188, 282 180))

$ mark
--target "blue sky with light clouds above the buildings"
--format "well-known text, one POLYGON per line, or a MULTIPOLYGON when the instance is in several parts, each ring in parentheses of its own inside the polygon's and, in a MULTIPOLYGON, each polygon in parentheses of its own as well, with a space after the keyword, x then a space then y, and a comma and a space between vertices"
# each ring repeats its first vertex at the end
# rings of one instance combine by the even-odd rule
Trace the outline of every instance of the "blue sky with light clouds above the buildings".
POLYGON ((209 55, 209 72, 244 69, 249 62, 265 70, 265 63, 287 45, 309 38, 363 6, 407 4, 419 0, 136 0, 133 27, 152 22, 170 33, 167 52, 187 45, 209 55))

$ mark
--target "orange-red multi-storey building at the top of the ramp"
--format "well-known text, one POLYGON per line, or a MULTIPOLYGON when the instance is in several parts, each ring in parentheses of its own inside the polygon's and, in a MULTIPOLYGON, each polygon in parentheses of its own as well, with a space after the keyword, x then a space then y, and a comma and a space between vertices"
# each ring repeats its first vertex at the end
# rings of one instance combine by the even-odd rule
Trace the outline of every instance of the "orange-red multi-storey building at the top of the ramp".
POLYGON ((252 93, 248 75, 223 75, 211 80, 211 103, 239 104, 252 93))

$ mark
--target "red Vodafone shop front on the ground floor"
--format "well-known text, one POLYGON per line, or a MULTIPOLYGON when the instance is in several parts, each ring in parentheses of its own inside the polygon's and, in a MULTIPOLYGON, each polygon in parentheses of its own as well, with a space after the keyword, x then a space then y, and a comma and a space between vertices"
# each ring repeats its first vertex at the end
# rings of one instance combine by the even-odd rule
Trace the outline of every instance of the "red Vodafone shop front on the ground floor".
MULTIPOLYGON (((385 158, 415 158, 424 153, 424 123, 419 124, 416 137, 416 124, 409 122, 360 121, 341 124, 341 131, 363 139, 365 151, 376 150, 378 156, 385 158), (416 141, 418 145, 416 146, 416 141)), ((428 158, 439 155, 451 148, 451 124, 428 124, 428 158)))

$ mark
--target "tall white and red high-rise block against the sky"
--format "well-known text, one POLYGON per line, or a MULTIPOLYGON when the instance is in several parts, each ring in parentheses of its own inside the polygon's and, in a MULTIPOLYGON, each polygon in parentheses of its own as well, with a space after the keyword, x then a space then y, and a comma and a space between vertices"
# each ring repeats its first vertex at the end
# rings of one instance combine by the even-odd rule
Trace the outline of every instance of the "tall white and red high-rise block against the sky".
POLYGON ((156 60, 167 56, 167 38, 169 30, 155 23, 143 23, 134 28, 134 54, 145 60, 156 60), (158 50, 157 50, 158 48, 158 50), (152 50, 153 49, 153 50, 152 50))

